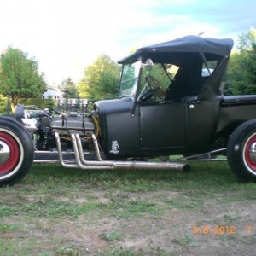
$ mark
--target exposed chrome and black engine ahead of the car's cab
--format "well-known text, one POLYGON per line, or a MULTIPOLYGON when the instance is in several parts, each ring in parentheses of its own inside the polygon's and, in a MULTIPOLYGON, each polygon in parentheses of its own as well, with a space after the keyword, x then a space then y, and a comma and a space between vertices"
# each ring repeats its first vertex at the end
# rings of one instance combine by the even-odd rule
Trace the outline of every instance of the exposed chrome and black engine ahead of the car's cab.
POLYGON ((87 100, 69 99, 68 104, 64 105, 64 99, 60 99, 58 108, 54 109, 55 114, 49 113, 49 109, 44 110, 35 106, 27 110, 23 105, 16 106, 16 117, 21 119, 26 126, 26 130, 32 135, 35 148, 37 150, 51 150, 56 148, 55 132, 59 133, 61 148, 63 150, 72 149, 70 131, 79 134, 83 148, 90 150, 92 142, 91 135, 99 132, 95 125, 96 118, 86 113, 87 100))

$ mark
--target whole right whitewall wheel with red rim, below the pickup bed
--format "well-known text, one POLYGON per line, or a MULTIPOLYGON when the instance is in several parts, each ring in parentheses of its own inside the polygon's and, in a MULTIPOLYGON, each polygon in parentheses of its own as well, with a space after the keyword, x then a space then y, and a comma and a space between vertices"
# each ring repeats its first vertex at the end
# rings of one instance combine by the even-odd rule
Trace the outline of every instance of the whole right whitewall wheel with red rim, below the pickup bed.
POLYGON ((230 169, 241 181, 256 181, 256 120, 236 128, 228 143, 227 157, 230 169))

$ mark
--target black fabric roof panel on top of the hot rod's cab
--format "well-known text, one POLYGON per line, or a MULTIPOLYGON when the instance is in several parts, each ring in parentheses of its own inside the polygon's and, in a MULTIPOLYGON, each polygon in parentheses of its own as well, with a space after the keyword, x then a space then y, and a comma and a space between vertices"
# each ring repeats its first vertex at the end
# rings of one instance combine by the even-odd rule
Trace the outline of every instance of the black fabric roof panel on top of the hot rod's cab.
POLYGON ((175 40, 154 44, 151 46, 137 49, 137 51, 124 59, 119 60, 119 64, 137 59, 137 56, 147 53, 204 53, 227 56, 233 47, 233 40, 230 38, 217 39, 217 38, 201 38, 199 36, 187 36, 177 38, 175 40))

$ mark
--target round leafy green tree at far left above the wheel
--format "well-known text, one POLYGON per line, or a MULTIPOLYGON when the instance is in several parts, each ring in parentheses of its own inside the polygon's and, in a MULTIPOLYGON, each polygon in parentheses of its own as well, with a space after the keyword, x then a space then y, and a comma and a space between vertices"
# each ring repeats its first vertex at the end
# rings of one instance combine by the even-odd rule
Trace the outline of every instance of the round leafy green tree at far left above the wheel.
POLYGON ((20 49, 9 47, 0 58, 0 93, 9 96, 12 109, 20 97, 41 97, 46 88, 38 62, 20 49))

